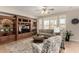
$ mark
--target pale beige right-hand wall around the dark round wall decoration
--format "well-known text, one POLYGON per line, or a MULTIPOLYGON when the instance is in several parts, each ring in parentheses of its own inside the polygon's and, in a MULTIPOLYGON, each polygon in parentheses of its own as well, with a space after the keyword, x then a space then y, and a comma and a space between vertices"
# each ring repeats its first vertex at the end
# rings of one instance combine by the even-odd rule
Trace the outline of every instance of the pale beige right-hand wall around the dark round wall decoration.
POLYGON ((71 37, 71 40, 73 41, 79 41, 79 24, 72 24, 71 21, 73 18, 79 19, 79 10, 67 12, 67 20, 66 20, 66 26, 68 30, 71 30, 74 36, 71 37))

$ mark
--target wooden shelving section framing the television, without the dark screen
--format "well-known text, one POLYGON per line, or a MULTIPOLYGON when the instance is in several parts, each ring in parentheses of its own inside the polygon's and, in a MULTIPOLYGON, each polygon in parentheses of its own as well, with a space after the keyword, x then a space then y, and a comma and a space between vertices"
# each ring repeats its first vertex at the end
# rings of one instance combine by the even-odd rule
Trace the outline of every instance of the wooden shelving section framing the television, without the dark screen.
POLYGON ((17 34, 17 40, 24 39, 24 38, 32 36, 32 33, 31 33, 31 20, 30 20, 30 18, 17 16, 17 33, 16 34, 17 34), (26 26, 26 27, 29 26, 29 31, 30 32, 20 33, 19 34, 18 33, 19 32, 19 25, 20 26, 26 26))

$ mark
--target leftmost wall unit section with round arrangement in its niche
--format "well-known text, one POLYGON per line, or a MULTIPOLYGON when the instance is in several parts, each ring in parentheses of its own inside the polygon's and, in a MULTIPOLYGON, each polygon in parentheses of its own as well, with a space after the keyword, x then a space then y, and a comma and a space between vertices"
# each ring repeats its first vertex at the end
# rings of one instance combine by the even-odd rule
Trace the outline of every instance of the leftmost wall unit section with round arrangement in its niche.
POLYGON ((0 44, 15 40, 14 18, 0 15, 0 44))

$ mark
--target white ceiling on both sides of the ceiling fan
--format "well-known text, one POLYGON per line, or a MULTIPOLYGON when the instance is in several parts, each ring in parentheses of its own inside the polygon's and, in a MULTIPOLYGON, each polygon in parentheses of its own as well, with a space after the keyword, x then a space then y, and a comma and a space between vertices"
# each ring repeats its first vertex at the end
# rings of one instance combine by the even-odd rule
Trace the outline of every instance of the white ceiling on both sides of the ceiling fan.
MULTIPOLYGON (((42 11, 41 6, 5 6, 4 8, 7 8, 8 10, 12 10, 12 11, 17 10, 18 14, 20 14, 20 15, 22 13, 24 13, 24 15, 30 15, 30 16, 34 16, 34 17, 42 16, 40 13, 42 11)), ((57 14, 57 13, 68 12, 71 10, 79 9, 78 6, 47 6, 47 8, 54 9, 54 10, 50 11, 50 14, 57 14)), ((1 9, 1 6, 0 6, 0 9, 1 9)))

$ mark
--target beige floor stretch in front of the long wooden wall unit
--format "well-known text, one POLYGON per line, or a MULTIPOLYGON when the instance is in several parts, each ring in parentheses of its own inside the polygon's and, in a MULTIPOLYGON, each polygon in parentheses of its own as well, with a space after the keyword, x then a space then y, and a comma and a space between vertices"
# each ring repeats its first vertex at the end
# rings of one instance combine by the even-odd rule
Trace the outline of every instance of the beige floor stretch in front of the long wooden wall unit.
POLYGON ((0 45, 0 53, 30 53, 32 52, 31 38, 18 40, 8 44, 0 45))

